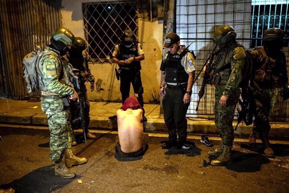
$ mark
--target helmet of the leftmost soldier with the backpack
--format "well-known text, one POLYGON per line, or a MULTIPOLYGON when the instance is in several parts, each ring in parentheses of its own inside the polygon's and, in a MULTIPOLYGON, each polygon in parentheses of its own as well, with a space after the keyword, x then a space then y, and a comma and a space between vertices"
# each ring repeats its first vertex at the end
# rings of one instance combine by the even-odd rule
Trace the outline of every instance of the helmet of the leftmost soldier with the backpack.
POLYGON ((75 36, 73 35, 73 33, 64 27, 56 29, 52 33, 52 37, 55 41, 59 40, 66 46, 72 46, 75 43, 75 36))

